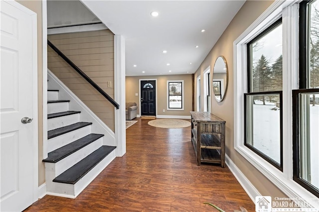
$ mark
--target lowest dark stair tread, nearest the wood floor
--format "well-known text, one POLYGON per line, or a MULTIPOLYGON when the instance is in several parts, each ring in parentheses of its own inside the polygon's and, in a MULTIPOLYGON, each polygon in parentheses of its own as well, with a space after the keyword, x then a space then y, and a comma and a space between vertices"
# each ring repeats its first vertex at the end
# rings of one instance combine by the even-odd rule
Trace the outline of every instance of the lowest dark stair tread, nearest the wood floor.
POLYGON ((53 182, 74 185, 115 148, 116 146, 101 146, 83 160, 79 161, 77 164, 54 178, 53 182))

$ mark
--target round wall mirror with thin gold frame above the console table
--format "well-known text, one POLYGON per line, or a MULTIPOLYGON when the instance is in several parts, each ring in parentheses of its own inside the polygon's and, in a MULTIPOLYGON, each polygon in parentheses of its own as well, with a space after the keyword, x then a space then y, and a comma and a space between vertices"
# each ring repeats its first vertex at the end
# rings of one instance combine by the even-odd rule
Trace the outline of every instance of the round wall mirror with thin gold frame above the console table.
POLYGON ((217 102, 221 102, 226 94, 228 84, 227 62, 223 56, 219 56, 213 69, 213 93, 217 102))

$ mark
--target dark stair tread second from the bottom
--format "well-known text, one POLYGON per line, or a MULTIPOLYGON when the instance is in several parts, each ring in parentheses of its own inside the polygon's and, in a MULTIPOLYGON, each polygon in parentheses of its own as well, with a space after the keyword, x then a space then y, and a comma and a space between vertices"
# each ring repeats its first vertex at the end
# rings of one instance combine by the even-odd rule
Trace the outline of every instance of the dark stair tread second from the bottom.
POLYGON ((61 148, 49 152, 48 157, 42 161, 48 163, 56 163, 103 136, 103 134, 89 134, 83 138, 73 141, 72 143, 62 146, 61 148))

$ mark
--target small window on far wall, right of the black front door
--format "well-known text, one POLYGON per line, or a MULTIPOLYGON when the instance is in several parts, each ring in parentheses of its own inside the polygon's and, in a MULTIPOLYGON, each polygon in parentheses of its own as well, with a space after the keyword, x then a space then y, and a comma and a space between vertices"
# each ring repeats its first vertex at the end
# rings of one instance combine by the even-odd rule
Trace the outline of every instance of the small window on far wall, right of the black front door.
POLYGON ((183 81, 167 81, 167 110, 183 109, 183 81))

